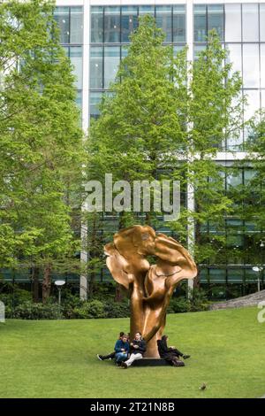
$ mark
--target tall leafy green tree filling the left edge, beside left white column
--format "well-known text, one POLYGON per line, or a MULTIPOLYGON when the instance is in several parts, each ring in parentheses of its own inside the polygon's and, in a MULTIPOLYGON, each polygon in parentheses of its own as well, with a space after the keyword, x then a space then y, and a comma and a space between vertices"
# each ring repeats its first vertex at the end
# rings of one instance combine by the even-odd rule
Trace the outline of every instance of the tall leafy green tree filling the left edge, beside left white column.
POLYGON ((73 224, 84 153, 74 77, 53 1, 0 7, 1 227, 13 248, 12 262, 2 255, 1 266, 41 268, 45 302, 52 270, 65 270, 70 259, 75 267, 79 245, 73 224))

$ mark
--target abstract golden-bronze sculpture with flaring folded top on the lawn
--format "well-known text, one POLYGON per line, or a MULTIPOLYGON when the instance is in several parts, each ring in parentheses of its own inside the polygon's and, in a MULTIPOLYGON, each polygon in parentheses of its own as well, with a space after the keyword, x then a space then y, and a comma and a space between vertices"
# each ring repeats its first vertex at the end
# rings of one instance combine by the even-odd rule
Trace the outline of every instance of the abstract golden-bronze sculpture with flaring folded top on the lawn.
POLYGON ((145 357, 158 358, 156 341, 163 335, 170 297, 179 281, 197 274, 193 258, 176 240, 148 226, 119 231, 104 251, 114 280, 131 297, 131 334, 140 331, 148 344, 145 357), (148 256, 155 256, 155 265, 148 256))

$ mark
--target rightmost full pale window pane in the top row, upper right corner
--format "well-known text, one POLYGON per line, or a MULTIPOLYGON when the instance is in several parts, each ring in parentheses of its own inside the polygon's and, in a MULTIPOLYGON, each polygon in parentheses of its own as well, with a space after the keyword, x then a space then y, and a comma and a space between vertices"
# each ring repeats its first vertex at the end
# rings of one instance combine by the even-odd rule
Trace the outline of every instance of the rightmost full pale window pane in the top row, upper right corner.
POLYGON ((259 41, 258 4, 242 4, 243 42, 259 41))

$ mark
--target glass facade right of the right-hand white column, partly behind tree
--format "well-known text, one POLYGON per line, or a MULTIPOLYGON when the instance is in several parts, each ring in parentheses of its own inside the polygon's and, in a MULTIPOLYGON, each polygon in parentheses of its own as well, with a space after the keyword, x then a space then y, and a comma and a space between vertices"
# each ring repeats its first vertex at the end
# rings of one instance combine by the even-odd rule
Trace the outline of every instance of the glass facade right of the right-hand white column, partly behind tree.
MULTIPOLYGON (((250 119, 264 105, 265 4, 194 4, 193 14, 194 58, 207 47, 208 32, 215 28, 229 50, 233 71, 242 76, 242 94, 248 100, 244 119, 250 119)), ((227 137, 224 150, 244 150, 247 135, 245 130, 238 138, 227 137)))

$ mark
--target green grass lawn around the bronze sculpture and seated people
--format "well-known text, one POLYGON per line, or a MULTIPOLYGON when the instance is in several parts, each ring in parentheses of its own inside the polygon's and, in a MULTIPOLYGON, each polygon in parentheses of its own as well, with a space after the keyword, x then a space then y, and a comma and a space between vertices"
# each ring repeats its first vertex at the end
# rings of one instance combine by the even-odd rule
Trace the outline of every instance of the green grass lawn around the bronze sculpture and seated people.
POLYGON ((98 361, 128 330, 126 319, 8 320, 0 324, 0 397, 261 397, 265 324, 257 311, 169 315, 170 344, 192 355, 184 368, 98 361))

